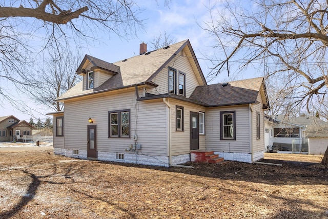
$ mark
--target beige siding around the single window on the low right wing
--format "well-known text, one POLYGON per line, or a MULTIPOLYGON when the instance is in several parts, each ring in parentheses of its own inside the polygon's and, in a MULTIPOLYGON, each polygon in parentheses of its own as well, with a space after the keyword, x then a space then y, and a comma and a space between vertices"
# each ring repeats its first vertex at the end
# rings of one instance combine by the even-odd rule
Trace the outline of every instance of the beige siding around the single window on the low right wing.
POLYGON ((249 105, 214 107, 206 111, 206 150, 250 153, 249 105), (220 140, 220 112, 236 112, 236 140, 220 140))

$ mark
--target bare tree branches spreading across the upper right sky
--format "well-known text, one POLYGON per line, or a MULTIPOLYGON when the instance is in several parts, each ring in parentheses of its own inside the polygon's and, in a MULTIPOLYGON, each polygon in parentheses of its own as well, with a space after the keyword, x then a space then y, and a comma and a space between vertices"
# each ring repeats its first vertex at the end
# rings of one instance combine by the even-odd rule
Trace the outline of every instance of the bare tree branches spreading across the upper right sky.
POLYGON ((324 112, 328 106, 328 3, 257 0, 242 4, 227 1, 224 8, 208 8, 211 20, 202 27, 212 34, 214 48, 223 56, 213 61, 212 76, 222 71, 229 74, 232 67, 260 66, 265 76, 283 85, 281 98, 289 109, 305 106, 309 112, 324 112))

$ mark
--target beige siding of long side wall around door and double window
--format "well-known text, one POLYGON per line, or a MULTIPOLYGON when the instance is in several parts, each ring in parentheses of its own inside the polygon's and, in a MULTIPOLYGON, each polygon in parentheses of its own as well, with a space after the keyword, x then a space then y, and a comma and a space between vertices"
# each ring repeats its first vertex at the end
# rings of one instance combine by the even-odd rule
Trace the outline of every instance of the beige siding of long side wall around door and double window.
MULTIPOLYGON (((65 148, 87 150, 87 126, 89 116, 97 126, 97 151, 127 152, 134 144, 135 133, 135 90, 120 90, 79 98, 65 103, 65 148), (108 112, 130 110, 130 137, 108 137, 108 112)), ((166 105, 162 102, 137 102, 137 143, 142 145, 140 153, 167 155, 166 105), (160 116, 159 116, 160 115, 160 116)))

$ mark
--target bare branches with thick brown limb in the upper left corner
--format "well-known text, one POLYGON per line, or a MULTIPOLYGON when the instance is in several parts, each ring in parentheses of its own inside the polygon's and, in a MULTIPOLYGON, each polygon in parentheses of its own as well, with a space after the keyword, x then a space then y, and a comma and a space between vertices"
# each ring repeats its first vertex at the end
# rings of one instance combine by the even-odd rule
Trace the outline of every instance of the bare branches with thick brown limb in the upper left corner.
POLYGON ((97 33, 126 37, 143 28, 142 10, 132 0, 22 0, 0 2, 0 101, 15 100, 16 90, 38 86, 34 66, 49 47, 60 51, 75 43, 94 43, 97 33))

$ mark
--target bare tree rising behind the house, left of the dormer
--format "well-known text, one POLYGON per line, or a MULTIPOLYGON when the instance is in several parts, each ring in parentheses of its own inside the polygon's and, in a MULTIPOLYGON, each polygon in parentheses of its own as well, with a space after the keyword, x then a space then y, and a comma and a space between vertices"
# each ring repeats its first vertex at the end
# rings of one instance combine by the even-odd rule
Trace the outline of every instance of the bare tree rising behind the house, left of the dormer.
POLYGON ((54 99, 80 81, 76 74, 76 66, 80 64, 81 59, 78 51, 73 53, 65 50, 58 53, 56 49, 50 50, 42 68, 38 70, 38 86, 30 90, 31 98, 55 111, 63 110, 64 104, 55 102, 54 99))

